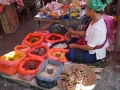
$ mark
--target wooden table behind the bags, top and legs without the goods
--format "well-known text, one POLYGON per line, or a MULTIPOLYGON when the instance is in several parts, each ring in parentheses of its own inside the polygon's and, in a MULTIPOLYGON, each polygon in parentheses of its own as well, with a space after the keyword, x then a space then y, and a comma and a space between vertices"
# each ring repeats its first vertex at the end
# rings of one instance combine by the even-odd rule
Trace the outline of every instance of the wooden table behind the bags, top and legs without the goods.
MULTIPOLYGON (((83 11, 82 14, 84 15, 85 11, 83 11)), ((39 30, 39 31, 40 30, 45 30, 46 28, 48 28, 53 23, 59 23, 59 24, 63 25, 66 29, 69 29, 69 28, 71 28, 69 26, 69 24, 75 24, 75 25, 78 25, 78 26, 83 24, 83 18, 84 18, 83 15, 80 19, 67 18, 67 19, 61 19, 61 20, 54 20, 50 16, 47 16, 47 15, 40 16, 39 14, 37 14, 36 16, 34 16, 34 20, 35 20, 36 26, 37 26, 36 29, 39 30), (41 21, 45 22, 45 24, 42 27, 40 27, 40 22, 41 21)))

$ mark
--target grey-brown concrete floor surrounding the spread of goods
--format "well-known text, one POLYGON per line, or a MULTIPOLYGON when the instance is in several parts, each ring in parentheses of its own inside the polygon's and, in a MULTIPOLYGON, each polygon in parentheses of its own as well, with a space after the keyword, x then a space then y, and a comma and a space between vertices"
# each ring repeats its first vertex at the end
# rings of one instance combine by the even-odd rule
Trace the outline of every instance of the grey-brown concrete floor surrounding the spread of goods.
MULTIPOLYGON (((23 22, 13 34, 5 35, 0 31, 0 56, 12 51, 14 47, 21 44, 25 36, 36 30, 34 20, 23 22)), ((101 79, 98 80, 94 90, 120 90, 120 52, 107 52, 107 57, 95 64, 104 68, 101 79)), ((0 90, 37 90, 36 88, 27 88, 23 85, 15 83, 0 77, 0 90)))

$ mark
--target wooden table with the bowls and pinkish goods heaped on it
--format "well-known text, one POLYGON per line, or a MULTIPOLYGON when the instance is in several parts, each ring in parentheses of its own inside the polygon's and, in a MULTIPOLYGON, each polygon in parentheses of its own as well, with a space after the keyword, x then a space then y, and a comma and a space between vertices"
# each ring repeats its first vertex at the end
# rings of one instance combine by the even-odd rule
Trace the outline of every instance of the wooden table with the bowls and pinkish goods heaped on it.
MULTIPOLYGON (((36 26, 37 30, 45 30, 47 27, 51 26, 53 23, 57 22, 63 25, 65 28, 70 28, 69 24, 77 24, 80 26, 81 24, 84 24, 84 15, 85 15, 85 9, 83 7, 83 10, 77 9, 80 6, 76 6, 76 9, 78 12, 71 13, 69 12, 69 2, 63 2, 62 3, 57 3, 57 2, 51 2, 48 3, 45 7, 40 9, 40 12, 36 16, 34 16, 34 20, 36 21, 36 26), (65 6, 64 6, 65 5, 65 6), (59 14, 59 15, 54 15, 54 14, 59 14), (77 19, 72 19, 72 17, 77 18, 77 19), (78 17, 76 16, 78 15, 78 17), (80 15, 80 16, 79 16, 80 15), (40 22, 44 21, 45 24, 40 27, 40 22)), ((74 2, 75 4, 76 2, 74 2)), ((82 3, 82 1, 80 2, 82 3)), ((76 4, 77 5, 77 4, 76 4)), ((84 3, 81 4, 81 6, 84 6, 84 3)), ((70 6, 71 8, 73 7, 72 4, 70 6)), ((74 11, 73 11, 74 12, 74 11)))

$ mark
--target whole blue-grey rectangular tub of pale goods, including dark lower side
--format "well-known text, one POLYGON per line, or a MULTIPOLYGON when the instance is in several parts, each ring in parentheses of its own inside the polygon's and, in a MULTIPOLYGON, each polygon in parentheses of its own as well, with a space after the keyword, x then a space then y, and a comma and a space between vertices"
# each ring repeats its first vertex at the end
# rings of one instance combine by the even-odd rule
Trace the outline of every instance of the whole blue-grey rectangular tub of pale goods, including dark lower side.
POLYGON ((57 79, 63 69, 63 64, 51 59, 46 59, 36 75, 36 83, 45 88, 52 88, 57 85, 57 79))

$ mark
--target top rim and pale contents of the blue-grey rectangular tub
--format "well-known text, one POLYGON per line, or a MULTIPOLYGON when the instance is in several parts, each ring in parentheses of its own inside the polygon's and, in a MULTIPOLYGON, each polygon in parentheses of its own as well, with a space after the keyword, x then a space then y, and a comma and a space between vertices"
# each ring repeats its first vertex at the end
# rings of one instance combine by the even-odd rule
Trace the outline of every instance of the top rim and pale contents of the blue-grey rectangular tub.
POLYGON ((37 78, 39 80, 53 82, 56 81, 61 74, 63 64, 51 59, 46 59, 43 63, 41 69, 37 73, 37 78))

